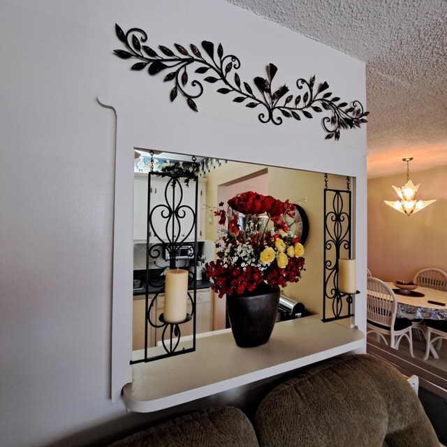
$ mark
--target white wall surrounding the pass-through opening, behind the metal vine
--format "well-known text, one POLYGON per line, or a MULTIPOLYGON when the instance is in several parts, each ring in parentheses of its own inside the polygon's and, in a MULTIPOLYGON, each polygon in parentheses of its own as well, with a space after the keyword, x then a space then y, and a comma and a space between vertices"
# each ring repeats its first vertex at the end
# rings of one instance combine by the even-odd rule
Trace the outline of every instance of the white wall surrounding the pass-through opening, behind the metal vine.
MULTIPOLYGON (((128 121, 135 126, 132 144, 186 153, 200 148, 202 155, 354 175, 360 198, 366 195, 365 127, 343 132, 340 142, 325 141, 319 119, 261 124, 257 113, 210 86, 194 114, 183 98, 170 103, 163 74, 131 72, 129 61, 113 56, 120 47, 115 22, 124 30, 144 28, 154 47, 221 41, 240 57, 242 78, 264 75, 273 62, 278 83, 293 86, 296 78, 315 73, 338 96, 365 104, 364 64, 224 1, 3 0, 3 446, 86 445, 145 420, 126 415, 122 402, 109 398, 115 115, 98 105, 97 96, 125 99, 119 110, 127 118, 135 103, 147 113, 128 121)), ((119 154, 133 152, 120 146, 129 138, 120 138, 118 133, 119 154)), ((125 190, 132 179, 131 173, 125 190)), ((365 239, 366 212, 362 206, 356 212, 358 240, 365 239)), ((125 282, 131 243, 121 248, 129 250, 125 282)), ((365 246, 358 242, 357 248, 366 265, 365 246)), ((128 303, 124 294, 114 300, 128 303)), ((124 314, 125 331, 129 316, 124 314)), ((124 345, 128 338, 130 332, 124 345)))

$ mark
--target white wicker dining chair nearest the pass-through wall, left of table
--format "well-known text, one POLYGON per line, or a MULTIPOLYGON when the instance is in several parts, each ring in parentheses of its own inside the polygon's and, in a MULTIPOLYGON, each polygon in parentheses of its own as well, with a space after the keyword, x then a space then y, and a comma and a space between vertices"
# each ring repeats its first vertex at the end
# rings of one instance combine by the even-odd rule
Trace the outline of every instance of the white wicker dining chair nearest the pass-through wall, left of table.
POLYGON ((399 349, 400 341, 406 337, 410 354, 413 355, 411 321, 408 318, 396 318, 397 300, 393 290, 381 279, 367 278, 367 335, 374 332, 377 338, 388 345, 385 335, 390 337, 390 347, 399 349))

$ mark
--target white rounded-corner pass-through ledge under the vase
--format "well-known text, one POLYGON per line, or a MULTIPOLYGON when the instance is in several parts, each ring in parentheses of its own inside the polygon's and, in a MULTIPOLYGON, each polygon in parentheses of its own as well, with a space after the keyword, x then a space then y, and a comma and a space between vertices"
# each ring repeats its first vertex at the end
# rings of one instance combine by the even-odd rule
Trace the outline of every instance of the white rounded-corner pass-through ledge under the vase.
POLYGON ((123 400, 131 411, 158 411, 355 350, 365 352, 360 330, 322 323, 319 315, 277 323, 256 348, 239 348, 223 331, 197 337, 192 353, 133 365, 123 400))

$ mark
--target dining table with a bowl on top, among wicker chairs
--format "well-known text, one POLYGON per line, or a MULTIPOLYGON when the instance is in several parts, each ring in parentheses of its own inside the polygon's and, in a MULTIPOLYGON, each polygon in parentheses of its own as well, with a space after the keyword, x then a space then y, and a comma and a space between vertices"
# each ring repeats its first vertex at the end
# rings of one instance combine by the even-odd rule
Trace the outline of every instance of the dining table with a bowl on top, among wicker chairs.
POLYGON ((397 318, 423 318, 424 320, 447 320, 447 292, 418 286, 413 291, 402 292, 392 282, 397 300, 397 318))

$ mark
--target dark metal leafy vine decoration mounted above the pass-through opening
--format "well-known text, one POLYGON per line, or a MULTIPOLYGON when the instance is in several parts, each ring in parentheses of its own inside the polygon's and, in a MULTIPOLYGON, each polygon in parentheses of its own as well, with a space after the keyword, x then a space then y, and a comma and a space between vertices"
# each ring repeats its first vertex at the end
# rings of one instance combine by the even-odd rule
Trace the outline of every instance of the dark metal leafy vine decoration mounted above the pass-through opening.
POLYGON ((186 99, 189 108, 198 111, 196 98, 202 96, 203 82, 214 84, 223 82, 225 87, 217 89, 220 94, 236 94, 233 98, 235 103, 245 103, 247 108, 261 106, 265 111, 259 113, 258 119, 262 123, 272 122, 282 124, 282 117, 294 118, 300 121, 302 117, 313 118, 313 113, 321 113, 323 110, 331 112, 330 117, 325 116, 321 120, 323 129, 328 134, 325 139, 334 138, 339 140, 341 129, 353 129, 367 122, 365 118, 369 112, 365 112, 360 101, 353 101, 351 105, 340 102, 338 96, 332 94, 328 82, 322 82, 318 87, 315 85, 315 75, 309 81, 299 78, 296 81, 297 94, 288 94, 287 85, 281 85, 272 90, 272 81, 278 69, 274 64, 268 64, 268 78, 256 76, 254 85, 259 93, 248 82, 242 81, 237 74, 240 68, 240 59, 234 54, 223 54, 221 43, 214 52, 214 43, 202 41, 206 56, 200 52, 196 45, 191 43, 189 50, 184 46, 174 43, 175 50, 159 45, 159 52, 145 45, 147 34, 140 28, 131 28, 124 31, 115 24, 115 31, 119 41, 124 43, 127 50, 114 50, 115 54, 122 59, 138 59, 131 66, 131 70, 140 71, 147 68, 149 75, 156 75, 163 70, 169 73, 165 76, 165 82, 174 82, 170 91, 170 101, 174 101, 180 94, 186 99), (178 54, 176 54, 176 52, 178 54), (203 80, 195 78, 191 80, 188 68, 196 64, 194 71, 196 75, 206 75, 203 80), (212 75, 210 75, 210 73, 212 75), (191 91, 191 87, 193 91, 191 91), (316 91, 315 91, 316 89, 316 91), (281 117, 282 115, 282 117, 281 117))

